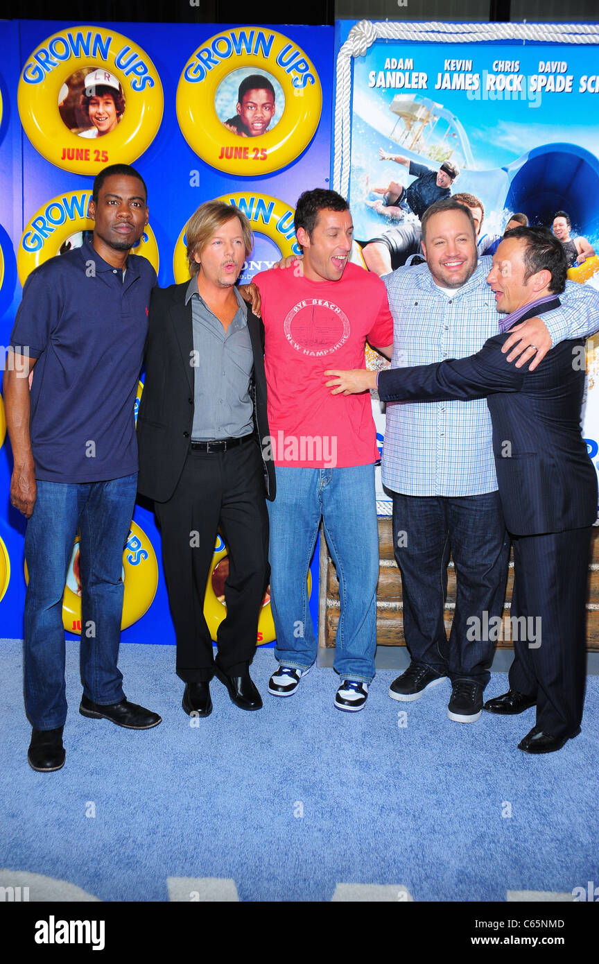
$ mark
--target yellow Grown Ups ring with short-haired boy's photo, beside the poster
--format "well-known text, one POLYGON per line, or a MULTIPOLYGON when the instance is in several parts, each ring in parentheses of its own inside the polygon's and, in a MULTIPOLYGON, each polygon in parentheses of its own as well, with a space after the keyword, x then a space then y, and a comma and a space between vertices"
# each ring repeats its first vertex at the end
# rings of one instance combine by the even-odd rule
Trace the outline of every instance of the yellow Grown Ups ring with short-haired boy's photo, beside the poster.
POLYGON ((292 164, 323 107, 316 67, 268 28, 223 30, 195 49, 177 84, 183 137, 221 174, 254 177, 292 164))

